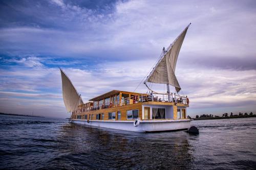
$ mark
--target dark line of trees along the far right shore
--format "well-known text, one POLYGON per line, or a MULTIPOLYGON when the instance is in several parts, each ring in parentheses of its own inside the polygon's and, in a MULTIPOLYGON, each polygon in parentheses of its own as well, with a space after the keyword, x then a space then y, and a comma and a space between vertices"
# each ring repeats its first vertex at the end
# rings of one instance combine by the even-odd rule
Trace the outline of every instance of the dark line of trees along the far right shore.
POLYGON ((223 119, 223 118, 247 118, 247 117, 256 117, 255 114, 253 114, 252 112, 248 113, 241 113, 239 112, 239 114, 233 114, 232 112, 230 114, 228 113, 223 113, 222 116, 217 116, 217 115, 213 115, 213 114, 203 114, 203 115, 196 115, 195 118, 191 118, 188 117, 190 119, 194 119, 194 120, 206 120, 206 119, 223 119))

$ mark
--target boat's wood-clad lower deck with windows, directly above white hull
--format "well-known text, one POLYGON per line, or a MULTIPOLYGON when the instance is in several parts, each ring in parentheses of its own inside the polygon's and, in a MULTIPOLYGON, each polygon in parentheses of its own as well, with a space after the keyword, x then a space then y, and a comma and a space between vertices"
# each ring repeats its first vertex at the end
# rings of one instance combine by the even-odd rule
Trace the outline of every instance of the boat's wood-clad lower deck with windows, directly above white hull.
POLYGON ((188 105, 169 102, 139 102, 113 108, 102 108, 87 112, 72 113, 77 120, 131 121, 139 120, 182 120, 187 119, 188 105))

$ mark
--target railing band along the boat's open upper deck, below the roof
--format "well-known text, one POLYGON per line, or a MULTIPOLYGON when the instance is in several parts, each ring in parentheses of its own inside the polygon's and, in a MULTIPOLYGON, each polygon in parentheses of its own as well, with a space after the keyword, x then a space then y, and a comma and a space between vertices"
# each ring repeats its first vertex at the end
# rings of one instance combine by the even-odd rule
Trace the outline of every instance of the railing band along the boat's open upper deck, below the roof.
POLYGON ((170 94, 170 101, 168 101, 168 95, 167 94, 159 94, 159 93, 150 93, 150 94, 140 94, 140 95, 133 95, 129 98, 124 98, 120 102, 119 100, 113 102, 105 102, 101 106, 91 106, 87 108, 79 108, 75 111, 75 113, 81 113, 81 112, 88 112, 92 110, 100 110, 100 109, 108 109, 108 108, 114 108, 117 106, 125 106, 135 103, 144 103, 144 102, 169 102, 169 103, 179 103, 179 104, 188 104, 187 96, 181 96, 177 95, 176 93, 170 94))

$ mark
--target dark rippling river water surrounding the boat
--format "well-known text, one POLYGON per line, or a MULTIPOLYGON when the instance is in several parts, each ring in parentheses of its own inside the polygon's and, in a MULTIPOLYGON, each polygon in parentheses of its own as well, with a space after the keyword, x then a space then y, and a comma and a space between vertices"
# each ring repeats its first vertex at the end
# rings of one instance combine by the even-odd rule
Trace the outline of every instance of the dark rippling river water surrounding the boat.
POLYGON ((199 135, 125 132, 65 119, 0 115, 0 168, 256 168, 256 118, 191 124, 199 135))

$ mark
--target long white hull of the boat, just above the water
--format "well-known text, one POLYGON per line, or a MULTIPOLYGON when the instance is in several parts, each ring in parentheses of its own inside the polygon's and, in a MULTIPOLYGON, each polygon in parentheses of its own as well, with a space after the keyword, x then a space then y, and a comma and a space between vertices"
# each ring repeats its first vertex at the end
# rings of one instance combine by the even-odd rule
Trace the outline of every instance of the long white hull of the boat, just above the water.
POLYGON ((102 128, 110 128, 123 131, 132 132, 157 132, 157 131, 174 131, 190 128, 189 119, 180 120, 142 120, 139 126, 134 126, 134 121, 131 120, 87 120, 73 119, 72 122, 76 124, 96 126, 102 128))

